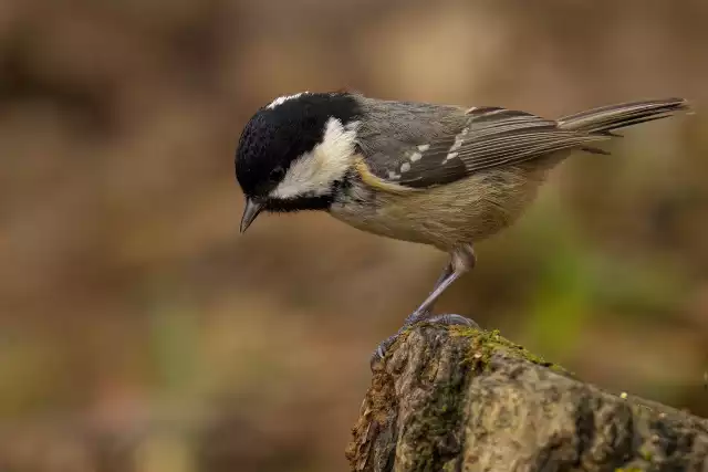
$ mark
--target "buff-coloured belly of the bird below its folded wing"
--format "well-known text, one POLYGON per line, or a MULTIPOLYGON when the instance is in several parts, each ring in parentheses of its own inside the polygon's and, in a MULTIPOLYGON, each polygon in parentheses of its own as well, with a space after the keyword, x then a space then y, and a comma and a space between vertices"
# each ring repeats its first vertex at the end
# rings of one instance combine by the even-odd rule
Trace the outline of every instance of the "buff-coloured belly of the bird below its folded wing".
POLYGON ((497 169, 403 195, 369 189, 374 198, 365 201, 374 203, 335 203, 331 213, 363 231, 448 251, 513 223, 535 197, 545 172, 535 174, 497 169))

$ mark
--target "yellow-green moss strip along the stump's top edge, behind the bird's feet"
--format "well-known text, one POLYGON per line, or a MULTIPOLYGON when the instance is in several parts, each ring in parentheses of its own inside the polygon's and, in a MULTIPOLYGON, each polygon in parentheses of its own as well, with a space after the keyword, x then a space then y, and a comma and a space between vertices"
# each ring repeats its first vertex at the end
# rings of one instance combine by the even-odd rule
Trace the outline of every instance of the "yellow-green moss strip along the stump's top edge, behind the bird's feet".
POLYGON ((486 332, 466 326, 451 326, 450 335, 465 336, 470 339, 470 356, 467 361, 476 369, 485 371, 489 369, 489 360, 493 353, 503 352, 506 355, 546 367, 556 374, 572 377, 573 374, 562 366, 546 361, 523 346, 510 342, 499 334, 499 329, 486 332))

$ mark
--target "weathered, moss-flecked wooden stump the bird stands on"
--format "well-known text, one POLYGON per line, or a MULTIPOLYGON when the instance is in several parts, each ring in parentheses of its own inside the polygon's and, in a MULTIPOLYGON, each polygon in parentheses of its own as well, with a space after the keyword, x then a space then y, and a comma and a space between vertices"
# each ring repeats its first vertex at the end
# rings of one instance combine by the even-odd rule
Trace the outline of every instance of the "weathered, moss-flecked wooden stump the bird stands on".
POLYGON ((404 334, 375 367, 353 434, 357 472, 708 472, 708 420, 460 327, 404 334))

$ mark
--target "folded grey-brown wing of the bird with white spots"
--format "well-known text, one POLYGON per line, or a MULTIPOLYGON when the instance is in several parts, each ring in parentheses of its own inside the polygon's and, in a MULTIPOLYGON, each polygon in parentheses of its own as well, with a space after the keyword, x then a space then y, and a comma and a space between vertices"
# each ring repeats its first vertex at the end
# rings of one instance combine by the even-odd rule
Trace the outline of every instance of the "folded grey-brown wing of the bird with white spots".
POLYGON ((372 171, 384 180, 421 188, 449 183, 471 174, 513 166, 551 153, 608 139, 561 129, 552 120, 498 107, 472 108, 454 114, 437 126, 429 141, 386 143, 387 148, 365 149, 372 171))

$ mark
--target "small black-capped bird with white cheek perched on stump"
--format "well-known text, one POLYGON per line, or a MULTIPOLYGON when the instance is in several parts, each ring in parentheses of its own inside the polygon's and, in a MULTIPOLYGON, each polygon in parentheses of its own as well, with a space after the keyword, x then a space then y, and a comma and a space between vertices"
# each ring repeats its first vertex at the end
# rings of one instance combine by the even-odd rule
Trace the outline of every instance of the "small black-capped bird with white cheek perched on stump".
POLYGON ((374 350, 374 366, 413 324, 477 326, 434 315, 434 305, 475 266, 475 245, 514 223, 558 164, 574 150, 610 154, 597 145, 621 136, 615 129, 688 108, 684 98, 646 99, 548 119, 347 91, 283 95, 256 111, 238 140, 240 231, 263 212, 312 210, 449 254, 429 295, 374 350))

